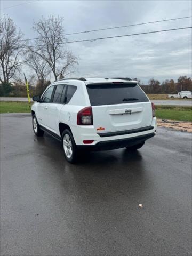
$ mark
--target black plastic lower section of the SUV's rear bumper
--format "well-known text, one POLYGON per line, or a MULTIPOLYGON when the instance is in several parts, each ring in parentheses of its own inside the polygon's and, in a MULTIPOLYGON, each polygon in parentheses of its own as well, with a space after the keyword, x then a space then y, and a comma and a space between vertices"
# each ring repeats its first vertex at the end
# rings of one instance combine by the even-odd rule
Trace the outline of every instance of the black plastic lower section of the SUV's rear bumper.
POLYGON ((151 132, 145 135, 136 136, 134 138, 100 141, 95 145, 77 145, 77 148, 89 150, 111 150, 117 148, 131 147, 150 139, 154 135, 155 132, 151 132))

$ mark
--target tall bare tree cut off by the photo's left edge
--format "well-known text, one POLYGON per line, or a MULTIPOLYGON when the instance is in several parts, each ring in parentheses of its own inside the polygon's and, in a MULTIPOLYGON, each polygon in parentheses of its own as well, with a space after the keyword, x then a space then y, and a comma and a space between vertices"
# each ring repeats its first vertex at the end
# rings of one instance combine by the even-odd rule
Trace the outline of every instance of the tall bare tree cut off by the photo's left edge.
POLYGON ((9 17, 0 19, 0 81, 9 83, 14 78, 21 65, 25 41, 21 41, 23 34, 17 30, 9 17))

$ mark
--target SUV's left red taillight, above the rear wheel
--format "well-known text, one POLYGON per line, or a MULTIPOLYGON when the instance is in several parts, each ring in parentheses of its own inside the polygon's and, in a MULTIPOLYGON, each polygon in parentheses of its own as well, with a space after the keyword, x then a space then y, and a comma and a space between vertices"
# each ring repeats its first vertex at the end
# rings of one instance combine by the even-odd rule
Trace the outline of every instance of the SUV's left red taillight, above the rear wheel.
POLYGON ((92 107, 86 107, 77 113, 78 125, 93 125, 92 107))

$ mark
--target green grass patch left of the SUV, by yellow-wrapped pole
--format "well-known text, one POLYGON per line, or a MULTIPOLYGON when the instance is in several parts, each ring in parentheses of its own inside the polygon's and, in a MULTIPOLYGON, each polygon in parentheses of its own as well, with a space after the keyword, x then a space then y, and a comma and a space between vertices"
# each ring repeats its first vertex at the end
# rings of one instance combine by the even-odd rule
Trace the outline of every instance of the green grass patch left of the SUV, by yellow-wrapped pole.
POLYGON ((30 113, 29 103, 21 101, 0 101, 0 113, 30 113))

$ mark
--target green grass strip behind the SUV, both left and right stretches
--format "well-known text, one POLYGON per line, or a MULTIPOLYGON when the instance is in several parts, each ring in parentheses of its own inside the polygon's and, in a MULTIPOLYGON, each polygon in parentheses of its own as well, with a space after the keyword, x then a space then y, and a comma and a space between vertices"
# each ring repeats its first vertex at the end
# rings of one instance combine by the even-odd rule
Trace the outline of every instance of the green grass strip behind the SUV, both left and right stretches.
MULTIPOLYGON (((155 108, 157 118, 192 122, 191 107, 156 105, 155 108)), ((30 113, 29 103, 0 101, 0 113, 30 113)))

